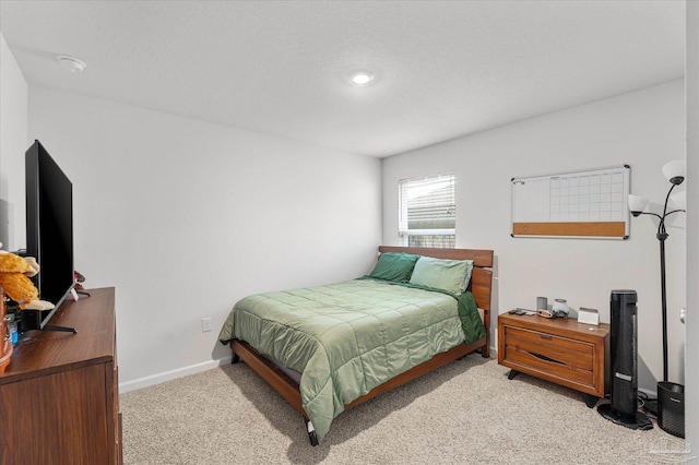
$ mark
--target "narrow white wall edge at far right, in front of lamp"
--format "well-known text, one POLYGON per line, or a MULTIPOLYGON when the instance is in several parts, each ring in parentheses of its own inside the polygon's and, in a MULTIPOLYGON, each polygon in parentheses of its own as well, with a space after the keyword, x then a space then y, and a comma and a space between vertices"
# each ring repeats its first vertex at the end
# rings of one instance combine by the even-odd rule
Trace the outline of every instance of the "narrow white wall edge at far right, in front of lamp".
POLYGON ((699 455, 699 3, 687 1, 687 368, 685 438, 699 455))

